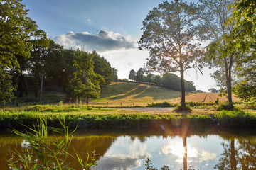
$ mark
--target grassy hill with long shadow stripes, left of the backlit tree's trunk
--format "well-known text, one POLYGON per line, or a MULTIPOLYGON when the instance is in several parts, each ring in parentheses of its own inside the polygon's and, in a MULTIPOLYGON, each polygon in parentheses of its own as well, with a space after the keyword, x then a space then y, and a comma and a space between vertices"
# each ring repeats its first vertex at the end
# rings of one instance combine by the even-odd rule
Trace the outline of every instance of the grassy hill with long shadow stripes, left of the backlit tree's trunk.
POLYGON ((92 99, 92 104, 102 106, 146 106, 153 102, 174 102, 178 97, 181 97, 181 91, 173 91, 148 84, 118 82, 102 89, 100 98, 92 99))

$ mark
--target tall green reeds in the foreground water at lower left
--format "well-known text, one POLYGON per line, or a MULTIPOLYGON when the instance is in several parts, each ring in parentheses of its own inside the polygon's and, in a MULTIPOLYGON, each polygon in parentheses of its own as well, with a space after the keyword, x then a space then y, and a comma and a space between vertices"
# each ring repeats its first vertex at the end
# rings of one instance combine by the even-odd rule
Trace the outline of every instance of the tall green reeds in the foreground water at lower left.
POLYGON ((95 158, 90 159, 89 154, 83 161, 79 154, 71 155, 68 153, 72 134, 69 132, 68 126, 65 125, 65 118, 60 120, 62 129, 48 127, 47 120, 40 118, 38 125, 33 128, 26 127, 26 132, 20 132, 11 129, 11 132, 22 137, 26 141, 26 149, 23 152, 14 151, 11 159, 8 160, 9 168, 20 169, 71 169, 68 157, 72 157, 79 164, 81 169, 90 169, 96 166, 95 158), (48 137, 48 131, 62 133, 63 138, 59 140, 57 137, 48 137))

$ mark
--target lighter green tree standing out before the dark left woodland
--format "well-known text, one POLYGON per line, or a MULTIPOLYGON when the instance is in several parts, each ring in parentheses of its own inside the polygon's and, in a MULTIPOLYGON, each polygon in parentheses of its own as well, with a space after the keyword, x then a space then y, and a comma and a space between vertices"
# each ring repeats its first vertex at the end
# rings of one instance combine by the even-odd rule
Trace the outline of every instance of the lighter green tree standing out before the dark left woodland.
POLYGON ((89 98, 100 97, 100 81, 104 81, 100 74, 94 72, 92 53, 78 51, 73 61, 75 72, 73 73, 72 84, 73 96, 79 100, 86 97, 86 103, 89 104, 89 98))

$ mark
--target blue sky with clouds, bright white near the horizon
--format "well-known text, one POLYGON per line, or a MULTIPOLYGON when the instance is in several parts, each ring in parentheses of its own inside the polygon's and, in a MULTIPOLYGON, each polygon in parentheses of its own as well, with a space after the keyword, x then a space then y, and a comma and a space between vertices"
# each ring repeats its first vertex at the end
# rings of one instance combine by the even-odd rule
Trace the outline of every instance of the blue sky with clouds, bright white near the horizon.
MULTIPOLYGON (((189 0, 188 2, 193 1, 189 0)), ((119 79, 128 79, 129 72, 144 66, 149 52, 139 50, 142 21, 161 0, 23 0, 28 16, 48 38, 65 48, 96 50, 118 70, 119 79)), ((210 77, 191 69, 184 75, 196 89, 216 88, 210 77)), ((175 73, 179 76, 179 73, 175 73)))

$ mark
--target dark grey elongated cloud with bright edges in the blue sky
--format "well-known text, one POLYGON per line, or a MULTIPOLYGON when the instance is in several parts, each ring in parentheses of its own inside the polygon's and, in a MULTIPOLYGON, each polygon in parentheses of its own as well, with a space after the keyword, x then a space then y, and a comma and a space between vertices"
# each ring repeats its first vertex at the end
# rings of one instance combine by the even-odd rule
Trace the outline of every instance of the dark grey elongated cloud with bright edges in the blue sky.
POLYGON ((129 36, 124 37, 119 33, 100 30, 97 34, 88 32, 73 33, 72 31, 64 35, 55 37, 55 41, 68 48, 84 48, 85 51, 96 50, 97 52, 106 52, 112 50, 128 50, 137 48, 136 42, 129 36))

